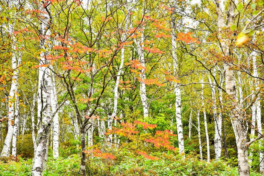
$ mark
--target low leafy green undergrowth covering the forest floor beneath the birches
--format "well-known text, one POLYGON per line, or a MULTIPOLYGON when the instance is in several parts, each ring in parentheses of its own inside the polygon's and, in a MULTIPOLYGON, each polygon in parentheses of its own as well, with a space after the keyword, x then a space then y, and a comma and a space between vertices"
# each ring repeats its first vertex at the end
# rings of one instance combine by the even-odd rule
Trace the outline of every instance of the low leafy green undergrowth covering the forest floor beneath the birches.
MULTIPOLYGON (((238 169, 229 167, 224 161, 201 161, 199 158, 188 155, 183 160, 174 153, 153 153, 159 160, 149 160, 141 155, 126 155, 127 152, 120 152, 117 159, 87 159, 87 175, 96 176, 174 176, 174 175, 216 175, 216 176, 236 176, 238 169)), ((50 176, 77 176, 80 175, 80 157, 77 154, 68 158, 49 158, 47 169, 44 175, 50 176)), ((27 176, 31 174, 32 159, 20 158, 17 162, 8 160, 0 162, 1 176, 27 176)), ((251 176, 261 174, 251 172, 251 176)))

